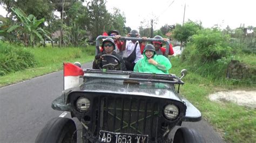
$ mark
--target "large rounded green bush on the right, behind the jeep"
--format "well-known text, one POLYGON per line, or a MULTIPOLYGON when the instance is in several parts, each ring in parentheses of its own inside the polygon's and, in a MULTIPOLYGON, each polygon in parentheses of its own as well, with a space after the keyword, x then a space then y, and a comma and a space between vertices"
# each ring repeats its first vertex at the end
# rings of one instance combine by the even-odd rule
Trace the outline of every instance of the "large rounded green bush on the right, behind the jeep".
POLYGON ((212 80, 224 78, 232 48, 230 37, 216 28, 199 30, 184 49, 181 60, 192 70, 212 80))

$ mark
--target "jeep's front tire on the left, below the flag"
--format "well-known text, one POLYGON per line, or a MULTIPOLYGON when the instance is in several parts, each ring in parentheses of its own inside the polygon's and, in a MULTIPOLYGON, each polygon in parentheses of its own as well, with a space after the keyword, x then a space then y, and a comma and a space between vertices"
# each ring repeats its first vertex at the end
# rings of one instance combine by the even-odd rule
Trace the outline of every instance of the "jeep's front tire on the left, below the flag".
POLYGON ((35 142, 76 142, 76 124, 69 118, 53 118, 37 135, 35 142))

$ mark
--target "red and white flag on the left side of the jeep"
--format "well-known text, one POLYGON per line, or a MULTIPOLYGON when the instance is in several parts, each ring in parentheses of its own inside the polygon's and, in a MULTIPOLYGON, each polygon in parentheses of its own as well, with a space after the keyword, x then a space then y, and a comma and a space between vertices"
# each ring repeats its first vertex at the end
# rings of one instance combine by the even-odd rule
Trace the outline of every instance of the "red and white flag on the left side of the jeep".
POLYGON ((73 63, 63 63, 64 66, 64 90, 77 87, 79 85, 79 76, 84 75, 82 68, 73 63))

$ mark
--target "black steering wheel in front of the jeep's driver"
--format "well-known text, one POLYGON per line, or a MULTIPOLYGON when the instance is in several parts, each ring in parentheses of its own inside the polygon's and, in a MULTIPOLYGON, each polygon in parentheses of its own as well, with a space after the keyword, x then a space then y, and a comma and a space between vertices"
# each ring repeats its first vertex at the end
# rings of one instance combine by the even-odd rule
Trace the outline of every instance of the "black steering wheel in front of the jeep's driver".
POLYGON ((102 59, 100 60, 98 67, 99 69, 120 70, 121 63, 116 56, 110 55, 110 54, 104 54, 102 55, 102 59), (113 62, 116 62, 116 63, 113 63, 113 62))

